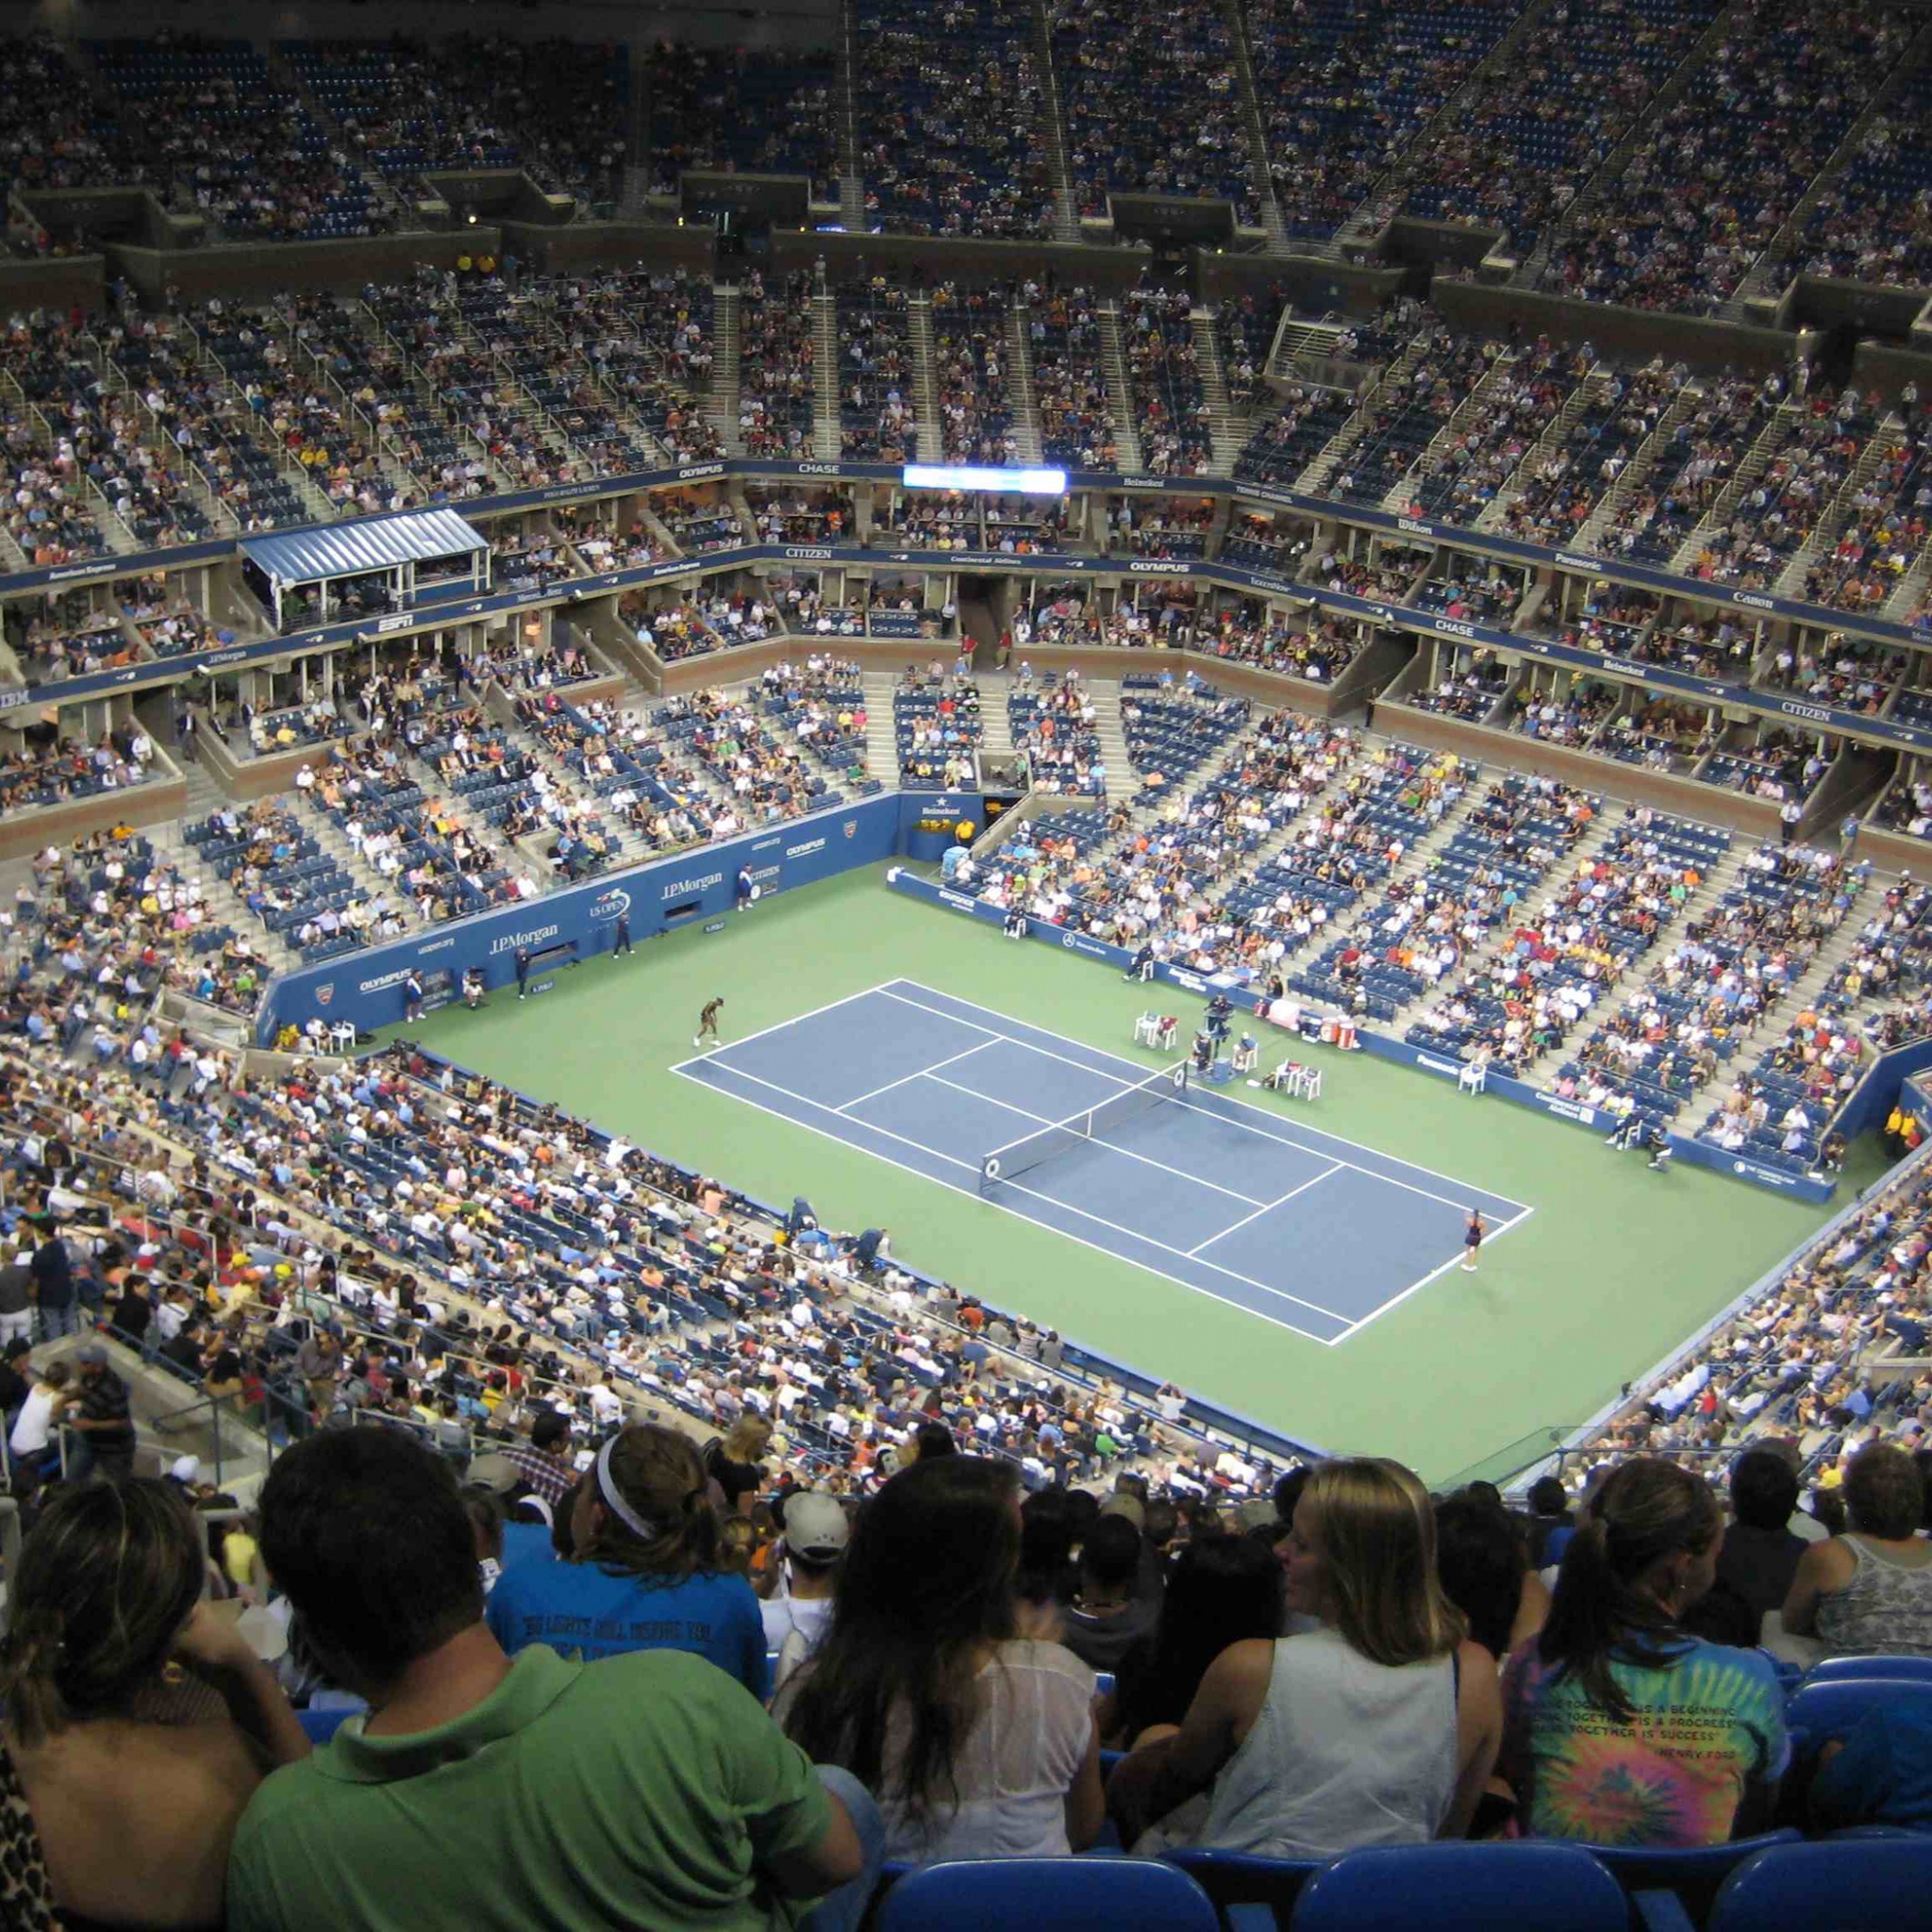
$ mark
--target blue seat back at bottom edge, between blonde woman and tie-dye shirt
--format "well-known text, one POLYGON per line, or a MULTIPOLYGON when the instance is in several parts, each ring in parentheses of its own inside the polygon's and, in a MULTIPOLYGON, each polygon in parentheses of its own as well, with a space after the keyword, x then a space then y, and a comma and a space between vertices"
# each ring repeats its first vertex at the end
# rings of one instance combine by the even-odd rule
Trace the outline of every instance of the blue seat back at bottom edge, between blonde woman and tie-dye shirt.
POLYGON ((1291 1932, 1627 1932, 1623 1888, 1580 1845, 1376 1845, 1325 1864, 1291 1932))

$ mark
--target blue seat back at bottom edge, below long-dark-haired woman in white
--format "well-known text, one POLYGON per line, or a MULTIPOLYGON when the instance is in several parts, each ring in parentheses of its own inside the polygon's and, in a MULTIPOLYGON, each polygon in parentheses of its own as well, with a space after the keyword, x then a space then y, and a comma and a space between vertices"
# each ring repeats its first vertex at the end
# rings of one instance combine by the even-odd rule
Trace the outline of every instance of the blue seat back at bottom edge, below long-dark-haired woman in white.
POLYGON ((1221 1932, 1208 1893, 1157 1859, 929 1864, 893 1886, 877 1924, 879 1932, 1221 1932))

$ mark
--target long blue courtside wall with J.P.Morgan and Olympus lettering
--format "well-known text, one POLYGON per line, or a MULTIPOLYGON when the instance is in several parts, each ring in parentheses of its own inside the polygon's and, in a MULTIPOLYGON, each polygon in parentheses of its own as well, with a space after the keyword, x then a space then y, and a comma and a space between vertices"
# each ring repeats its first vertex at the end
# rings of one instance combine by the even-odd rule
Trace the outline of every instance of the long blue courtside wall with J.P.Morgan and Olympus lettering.
POLYGON ((301 966, 269 983, 255 1039, 270 1045, 284 1026, 301 1028, 313 1018, 328 1026, 348 1022, 357 1034, 392 1026, 404 1016, 412 978, 421 983, 429 1010, 460 997, 471 968, 481 970, 487 987, 512 983, 520 949, 531 956, 533 976, 547 978, 570 962, 609 952, 620 925, 641 945, 715 920, 736 902, 740 873, 748 873, 757 896, 765 898, 893 858, 908 827, 956 806, 956 798, 939 792, 881 792, 628 871, 599 873, 545 898, 433 925, 321 966, 301 966))

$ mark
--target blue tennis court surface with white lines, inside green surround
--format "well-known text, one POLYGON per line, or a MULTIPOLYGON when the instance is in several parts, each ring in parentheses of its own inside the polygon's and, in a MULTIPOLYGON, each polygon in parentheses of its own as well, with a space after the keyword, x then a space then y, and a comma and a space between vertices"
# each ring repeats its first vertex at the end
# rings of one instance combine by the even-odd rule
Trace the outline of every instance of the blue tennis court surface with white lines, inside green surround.
POLYGON ((1321 1343, 1455 1267, 1470 1208, 1492 1240, 1530 1213, 1204 1084, 981 1190, 991 1150, 1103 1105, 1150 1065, 910 980, 676 1072, 1321 1343))

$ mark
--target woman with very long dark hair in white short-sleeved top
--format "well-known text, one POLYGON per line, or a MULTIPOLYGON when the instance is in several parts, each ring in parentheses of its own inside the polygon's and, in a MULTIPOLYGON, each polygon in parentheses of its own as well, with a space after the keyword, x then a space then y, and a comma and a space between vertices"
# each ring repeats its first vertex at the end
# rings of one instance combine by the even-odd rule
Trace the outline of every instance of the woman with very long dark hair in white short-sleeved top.
POLYGON ((1103 1820, 1094 1673, 1022 1638, 1018 1476, 914 1463, 858 1515, 831 1625, 775 1716, 879 1801, 889 1859, 1055 1857, 1103 1820))

